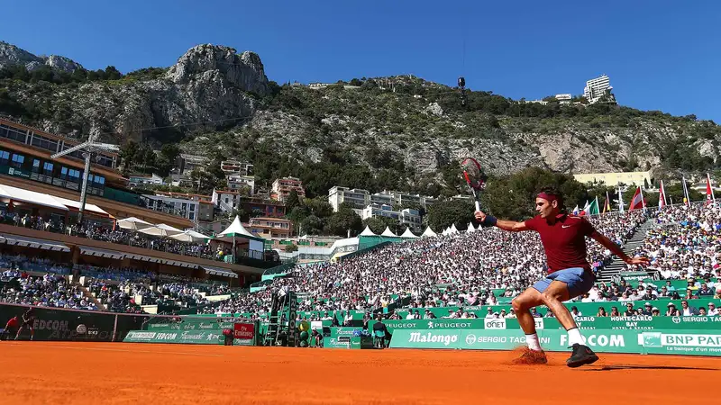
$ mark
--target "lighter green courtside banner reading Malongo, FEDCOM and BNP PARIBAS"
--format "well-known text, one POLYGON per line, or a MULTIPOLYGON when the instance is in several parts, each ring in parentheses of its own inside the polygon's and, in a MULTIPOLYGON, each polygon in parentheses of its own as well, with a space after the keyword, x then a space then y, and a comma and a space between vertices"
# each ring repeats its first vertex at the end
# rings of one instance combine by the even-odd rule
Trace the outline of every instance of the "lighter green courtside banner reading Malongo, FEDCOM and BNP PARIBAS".
MULTIPOLYGON (((569 350, 565 330, 543 329, 538 331, 538 336, 544 350, 569 350)), ((596 329, 584 332, 583 338, 598 353, 721 356, 721 333, 705 330, 643 332, 596 329)), ((525 346, 525 335, 520 330, 507 329, 397 329, 390 346, 512 350, 525 346)))

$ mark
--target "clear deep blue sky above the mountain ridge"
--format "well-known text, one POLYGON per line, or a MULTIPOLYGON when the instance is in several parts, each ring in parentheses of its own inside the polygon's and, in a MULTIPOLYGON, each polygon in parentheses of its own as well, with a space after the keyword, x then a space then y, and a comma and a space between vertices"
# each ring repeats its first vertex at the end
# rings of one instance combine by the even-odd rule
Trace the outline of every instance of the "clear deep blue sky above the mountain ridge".
POLYGON ((583 92, 721 122, 721 2, 0 0, 0 40, 123 73, 201 43, 252 50, 269 79, 413 74, 514 99, 583 92), (464 46, 465 43, 465 46, 464 46))

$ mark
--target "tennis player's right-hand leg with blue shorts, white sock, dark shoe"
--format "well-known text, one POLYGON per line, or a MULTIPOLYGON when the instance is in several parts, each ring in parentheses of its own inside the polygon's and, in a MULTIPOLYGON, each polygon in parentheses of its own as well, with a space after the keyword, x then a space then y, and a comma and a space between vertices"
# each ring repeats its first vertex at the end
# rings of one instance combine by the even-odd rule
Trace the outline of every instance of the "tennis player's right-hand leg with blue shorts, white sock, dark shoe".
POLYGON ((566 361, 569 367, 590 365, 598 360, 593 351, 585 345, 580 330, 563 302, 586 293, 593 286, 593 277, 582 268, 569 268, 552 274, 553 281, 545 289, 542 296, 543 304, 553 312, 569 334, 569 344, 573 348, 570 358, 566 361))

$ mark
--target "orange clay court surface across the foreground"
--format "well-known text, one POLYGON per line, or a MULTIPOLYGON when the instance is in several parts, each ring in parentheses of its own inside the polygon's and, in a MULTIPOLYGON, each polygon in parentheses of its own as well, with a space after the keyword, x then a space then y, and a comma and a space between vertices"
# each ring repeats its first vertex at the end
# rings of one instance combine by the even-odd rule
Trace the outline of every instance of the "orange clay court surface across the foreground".
POLYGON ((721 377, 716 358, 601 355, 596 365, 569 369, 565 353, 534 366, 511 365, 513 356, 4 341, 0 402, 560 404, 575 398, 584 404, 663 405, 713 403, 709 389, 721 377))

